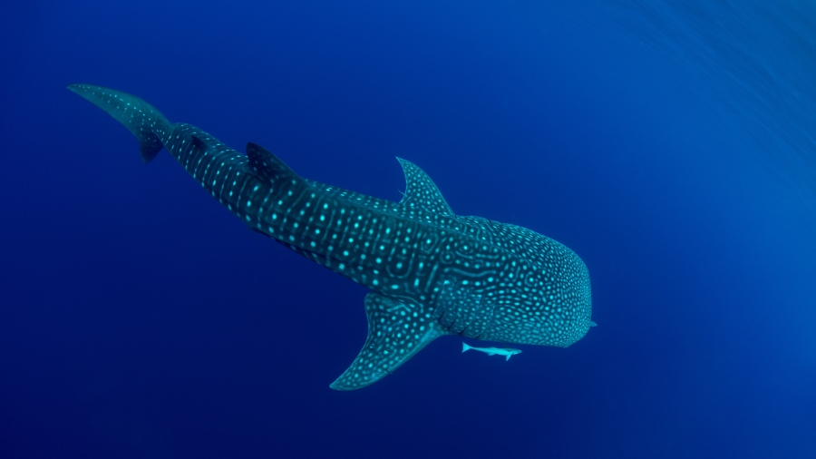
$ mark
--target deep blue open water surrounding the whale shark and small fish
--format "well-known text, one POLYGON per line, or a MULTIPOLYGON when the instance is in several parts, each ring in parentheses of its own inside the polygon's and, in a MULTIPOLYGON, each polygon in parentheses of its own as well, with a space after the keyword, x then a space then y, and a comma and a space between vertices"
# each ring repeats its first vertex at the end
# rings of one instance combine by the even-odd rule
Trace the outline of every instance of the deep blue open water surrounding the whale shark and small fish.
POLYGON ((816 457, 811 3, 9 0, 0 53, 0 457, 816 457), (364 288, 69 83, 386 199, 409 159, 598 327, 335 392, 364 288))

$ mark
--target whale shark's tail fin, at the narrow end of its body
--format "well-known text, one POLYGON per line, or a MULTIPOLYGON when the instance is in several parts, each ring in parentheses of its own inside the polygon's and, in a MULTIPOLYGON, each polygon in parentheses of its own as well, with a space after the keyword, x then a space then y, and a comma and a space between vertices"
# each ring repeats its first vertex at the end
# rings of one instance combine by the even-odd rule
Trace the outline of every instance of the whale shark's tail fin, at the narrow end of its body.
POLYGON ((166 141, 170 136, 172 125, 167 118, 150 103, 134 95, 92 84, 71 84, 68 89, 108 112, 131 130, 139 139, 141 161, 150 162, 155 158, 164 146, 161 140, 166 141))

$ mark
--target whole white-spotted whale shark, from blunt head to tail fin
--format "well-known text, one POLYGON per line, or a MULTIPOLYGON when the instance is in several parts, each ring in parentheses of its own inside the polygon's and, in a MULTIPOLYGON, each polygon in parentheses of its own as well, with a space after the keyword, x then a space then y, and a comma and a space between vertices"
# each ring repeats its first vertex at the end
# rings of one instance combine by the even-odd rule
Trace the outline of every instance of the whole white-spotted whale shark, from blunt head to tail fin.
POLYGON ((138 97, 69 86, 133 132, 142 161, 162 147, 213 198, 259 233, 371 288, 368 338, 331 385, 368 386, 446 334, 568 347, 590 327, 587 267, 529 229, 456 216, 431 179, 399 160, 399 203, 298 176, 253 143, 247 154, 171 123, 138 97))

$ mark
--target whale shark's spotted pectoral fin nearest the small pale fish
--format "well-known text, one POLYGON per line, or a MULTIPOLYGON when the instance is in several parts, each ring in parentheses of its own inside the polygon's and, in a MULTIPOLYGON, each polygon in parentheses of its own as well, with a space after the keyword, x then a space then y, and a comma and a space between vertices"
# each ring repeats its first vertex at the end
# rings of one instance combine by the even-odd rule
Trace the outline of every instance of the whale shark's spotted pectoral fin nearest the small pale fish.
POLYGON ((444 334, 435 320, 424 317, 421 305, 378 293, 365 296, 365 314, 365 345, 352 365, 332 383, 335 390, 355 390, 378 381, 444 334))

